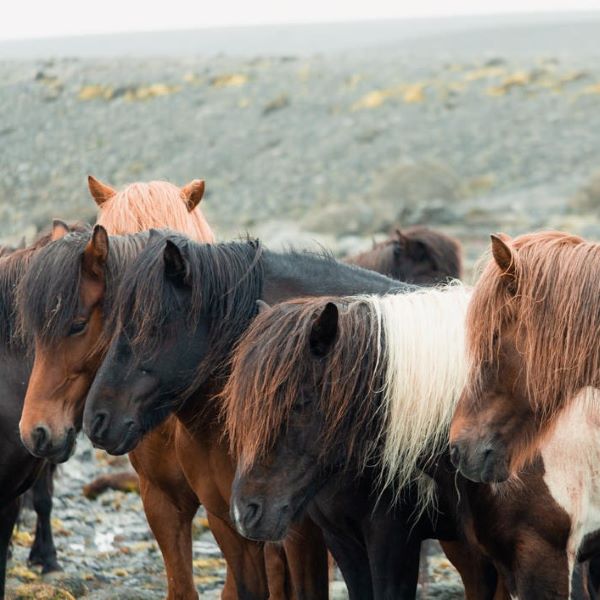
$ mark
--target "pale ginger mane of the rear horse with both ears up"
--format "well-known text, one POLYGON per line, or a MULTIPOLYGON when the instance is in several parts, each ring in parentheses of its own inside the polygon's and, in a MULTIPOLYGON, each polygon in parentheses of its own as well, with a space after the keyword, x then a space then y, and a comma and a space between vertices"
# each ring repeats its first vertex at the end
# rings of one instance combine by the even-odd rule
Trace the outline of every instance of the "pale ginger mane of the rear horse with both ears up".
POLYGON ((113 235, 168 227, 191 239, 215 241, 200 208, 188 211, 181 190, 167 181, 127 185, 102 204, 98 224, 113 235))

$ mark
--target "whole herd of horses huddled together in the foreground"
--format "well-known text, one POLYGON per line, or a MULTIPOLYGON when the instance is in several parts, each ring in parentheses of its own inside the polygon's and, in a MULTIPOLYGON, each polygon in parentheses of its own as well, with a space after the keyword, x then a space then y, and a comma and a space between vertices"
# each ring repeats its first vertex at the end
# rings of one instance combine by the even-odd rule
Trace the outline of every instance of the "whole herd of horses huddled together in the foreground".
POLYGON ((204 182, 89 178, 94 228, 0 256, 0 596, 23 494, 59 568, 52 474, 83 430, 128 453, 168 598, 197 598, 200 504, 222 597, 414 598, 437 539, 472 599, 600 588, 600 244, 395 231, 345 261, 217 243, 204 182))

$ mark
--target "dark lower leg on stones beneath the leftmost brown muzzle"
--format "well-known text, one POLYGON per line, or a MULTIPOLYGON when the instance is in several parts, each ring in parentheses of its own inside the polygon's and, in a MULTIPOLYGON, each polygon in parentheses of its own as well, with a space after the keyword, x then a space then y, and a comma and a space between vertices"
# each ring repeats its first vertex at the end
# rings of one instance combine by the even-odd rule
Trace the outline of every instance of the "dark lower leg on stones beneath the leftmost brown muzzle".
POLYGON ((56 559, 56 547, 52 537, 52 495, 54 493, 54 472, 56 465, 44 465, 31 489, 33 508, 37 514, 35 539, 29 552, 29 563, 41 565, 42 573, 61 571, 56 559))

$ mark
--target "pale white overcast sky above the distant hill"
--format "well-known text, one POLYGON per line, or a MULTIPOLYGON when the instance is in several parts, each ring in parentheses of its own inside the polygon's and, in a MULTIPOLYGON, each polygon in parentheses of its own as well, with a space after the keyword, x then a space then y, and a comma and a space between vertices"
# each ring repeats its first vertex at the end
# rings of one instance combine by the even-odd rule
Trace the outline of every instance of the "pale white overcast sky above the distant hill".
POLYGON ((600 9, 600 0, 2 0, 2 4, 0 39, 600 9))

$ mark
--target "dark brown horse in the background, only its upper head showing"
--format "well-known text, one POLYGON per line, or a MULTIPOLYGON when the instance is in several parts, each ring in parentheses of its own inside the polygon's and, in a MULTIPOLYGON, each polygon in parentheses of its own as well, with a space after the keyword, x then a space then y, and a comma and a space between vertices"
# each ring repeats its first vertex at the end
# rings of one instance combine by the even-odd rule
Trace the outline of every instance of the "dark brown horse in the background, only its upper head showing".
POLYGON ((344 261, 418 285, 462 277, 460 242, 422 226, 395 229, 387 240, 344 261))

